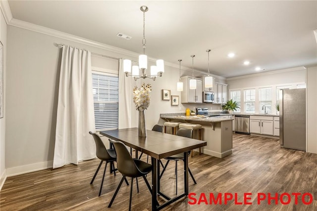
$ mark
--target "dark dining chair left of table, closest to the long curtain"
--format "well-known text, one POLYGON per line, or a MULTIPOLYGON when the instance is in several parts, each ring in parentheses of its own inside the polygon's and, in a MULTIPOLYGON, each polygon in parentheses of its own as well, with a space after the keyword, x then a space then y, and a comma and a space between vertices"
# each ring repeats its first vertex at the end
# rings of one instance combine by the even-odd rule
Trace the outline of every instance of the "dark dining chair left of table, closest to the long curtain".
MULTIPOLYGON (((97 133, 93 133, 93 132, 89 131, 89 134, 91 134, 94 137, 95 144, 96 144, 96 156, 97 156, 97 158, 99 158, 101 160, 90 184, 93 184, 101 165, 103 164, 104 161, 106 161, 103 179, 101 180, 101 185, 100 185, 100 190, 99 190, 99 195, 98 195, 98 196, 100 196, 101 191, 103 189, 107 164, 110 163, 110 173, 113 172, 113 174, 115 176, 115 171, 117 169, 114 168, 114 161, 116 161, 117 157, 116 157, 114 149, 106 149, 103 141, 101 140, 100 136, 97 133)), ((127 185, 129 185, 127 180, 125 180, 125 182, 127 185)))

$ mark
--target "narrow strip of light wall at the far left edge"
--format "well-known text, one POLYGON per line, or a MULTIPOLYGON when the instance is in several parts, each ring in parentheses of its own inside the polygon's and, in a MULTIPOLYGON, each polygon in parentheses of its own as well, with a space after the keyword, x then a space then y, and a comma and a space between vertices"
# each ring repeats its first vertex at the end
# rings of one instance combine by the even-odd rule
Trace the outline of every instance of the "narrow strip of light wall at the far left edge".
POLYGON ((2 10, 0 10, 0 41, 3 45, 3 106, 4 106, 4 114, 3 118, 0 119, 0 190, 6 178, 5 171, 5 120, 6 120, 6 22, 4 20, 2 10))

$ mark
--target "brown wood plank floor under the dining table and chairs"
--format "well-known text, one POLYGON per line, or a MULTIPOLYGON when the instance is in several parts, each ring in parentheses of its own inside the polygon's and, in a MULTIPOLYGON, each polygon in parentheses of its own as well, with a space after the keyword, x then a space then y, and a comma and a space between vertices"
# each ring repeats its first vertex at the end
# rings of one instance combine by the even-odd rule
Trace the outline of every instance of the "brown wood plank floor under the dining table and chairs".
MULTIPOLYGON (((233 135, 233 153, 225 158, 214 158, 207 155, 194 154, 189 158, 189 167, 197 181, 195 185, 189 177, 189 191, 196 193, 197 203, 201 193, 205 193, 207 202, 212 193, 215 197, 222 193, 221 205, 190 205, 191 198, 184 198, 175 202, 164 210, 191 210, 191 211, 291 211, 291 210, 317 210, 317 155, 301 151, 281 149, 277 139, 233 135), (237 194, 237 202, 244 202, 244 193, 251 193, 246 202, 252 205, 236 205, 234 199, 226 205, 224 194, 227 196, 237 194), (258 205, 258 193, 264 193, 266 199, 258 205), (277 205, 274 200, 269 200, 268 193, 272 196, 278 194, 277 205), (287 202, 287 194, 291 201, 287 202), (300 193, 298 204, 292 193, 300 193), (309 205, 302 202, 304 193, 313 196, 309 205), (281 194, 286 195, 280 201, 281 194)), ((146 155, 143 156, 146 160, 146 155)), ((128 210, 130 187, 122 184, 112 207, 107 208, 109 201, 121 179, 121 174, 116 176, 109 173, 107 166, 106 177, 102 195, 98 197, 102 178, 102 170, 96 177, 94 184, 90 185, 99 159, 81 162, 78 165, 66 165, 58 169, 47 169, 8 177, 0 192, 1 211, 53 211, 53 210, 128 210)), ((165 163, 165 161, 163 161, 165 163)), ((104 166, 104 165, 103 165, 104 166)), ((178 165, 178 190, 183 190, 182 165, 178 165)), ((102 167, 103 168, 103 167, 102 167)), ((151 183, 151 175, 148 175, 151 183)), ((170 162, 168 169, 161 179, 161 190, 171 196, 175 194, 174 162, 170 162)), ((131 180, 129 179, 129 182, 131 180)), ((137 194, 135 182, 132 196, 132 210, 151 211, 151 196, 142 179, 139 179, 140 193, 137 194)), ((261 195, 261 197, 264 196, 261 195)), ((204 198, 202 198, 204 199, 204 198)), ((309 202, 309 196, 304 198, 309 202)), ((159 202, 163 202, 159 198, 159 202)))

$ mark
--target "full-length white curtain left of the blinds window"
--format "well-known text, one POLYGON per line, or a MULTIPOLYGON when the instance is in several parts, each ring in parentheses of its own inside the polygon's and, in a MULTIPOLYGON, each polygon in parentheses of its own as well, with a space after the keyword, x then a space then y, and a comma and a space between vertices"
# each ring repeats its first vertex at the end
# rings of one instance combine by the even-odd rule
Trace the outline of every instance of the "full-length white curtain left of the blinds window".
POLYGON ((63 46, 53 168, 96 157, 91 53, 63 46))

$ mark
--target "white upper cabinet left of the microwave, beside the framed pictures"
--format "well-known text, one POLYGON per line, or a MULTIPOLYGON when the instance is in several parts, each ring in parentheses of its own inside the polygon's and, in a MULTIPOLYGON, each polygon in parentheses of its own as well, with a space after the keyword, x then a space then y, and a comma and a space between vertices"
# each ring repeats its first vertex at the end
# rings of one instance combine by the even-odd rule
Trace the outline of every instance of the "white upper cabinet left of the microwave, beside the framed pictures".
POLYGON ((189 80, 192 77, 184 76, 181 77, 181 81, 183 82, 183 91, 182 91, 182 100, 181 103, 203 103, 203 81, 201 79, 197 79, 197 87, 196 89, 189 89, 189 80))

